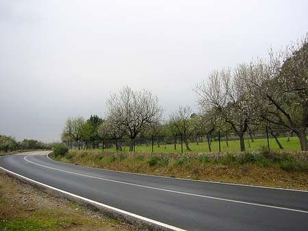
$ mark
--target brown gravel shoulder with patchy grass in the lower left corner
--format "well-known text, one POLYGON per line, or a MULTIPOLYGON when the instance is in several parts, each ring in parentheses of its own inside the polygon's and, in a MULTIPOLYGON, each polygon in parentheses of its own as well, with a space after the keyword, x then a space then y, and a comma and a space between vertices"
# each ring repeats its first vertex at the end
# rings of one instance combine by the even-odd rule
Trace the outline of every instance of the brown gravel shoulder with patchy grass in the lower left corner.
POLYGON ((0 230, 136 230, 0 171, 0 230))

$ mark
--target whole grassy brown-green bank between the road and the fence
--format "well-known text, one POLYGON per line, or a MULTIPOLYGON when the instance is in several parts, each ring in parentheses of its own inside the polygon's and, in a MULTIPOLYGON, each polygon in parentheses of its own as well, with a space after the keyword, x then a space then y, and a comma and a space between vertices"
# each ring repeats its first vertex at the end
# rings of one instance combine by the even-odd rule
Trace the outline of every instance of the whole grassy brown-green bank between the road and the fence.
POLYGON ((257 152, 210 156, 70 150, 55 160, 131 173, 308 191, 308 162, 296 160, 291 154, 257 152))

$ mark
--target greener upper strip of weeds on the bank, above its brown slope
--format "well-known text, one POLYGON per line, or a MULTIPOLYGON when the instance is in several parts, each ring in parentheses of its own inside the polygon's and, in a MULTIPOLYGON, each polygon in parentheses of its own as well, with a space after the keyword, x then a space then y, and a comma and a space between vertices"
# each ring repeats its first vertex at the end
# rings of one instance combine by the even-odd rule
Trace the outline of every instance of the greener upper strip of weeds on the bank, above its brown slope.
POLYGON ((133 154, 126 152, 107 153, 98 151, 70 151, 73 158, 55 158, 66 162, 78 163, 90 167, 100 168, 123 168, 119 171, 130 171, 131 169, 146 169, 147 167, 178 168, 201 165, 225 165, 241 167, 246 164, 257 167, 274 167, 289 172, 308 173, 308 162, 297 160, 292 154, 279 153, 267 149, 259 152, 228 153, 222 156, 209 156, 208 154, 133 154))

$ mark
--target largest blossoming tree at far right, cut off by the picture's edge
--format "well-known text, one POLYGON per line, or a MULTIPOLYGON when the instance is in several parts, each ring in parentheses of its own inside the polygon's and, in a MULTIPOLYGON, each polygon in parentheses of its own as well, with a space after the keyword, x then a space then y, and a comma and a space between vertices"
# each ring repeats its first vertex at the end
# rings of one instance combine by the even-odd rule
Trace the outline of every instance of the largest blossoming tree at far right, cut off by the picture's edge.
POLYGON ((296 44, 274 53, 268 62, 250 64, 255 75, 246 76, 262 119, 291 129, 308 150, 308 34, 296 44))

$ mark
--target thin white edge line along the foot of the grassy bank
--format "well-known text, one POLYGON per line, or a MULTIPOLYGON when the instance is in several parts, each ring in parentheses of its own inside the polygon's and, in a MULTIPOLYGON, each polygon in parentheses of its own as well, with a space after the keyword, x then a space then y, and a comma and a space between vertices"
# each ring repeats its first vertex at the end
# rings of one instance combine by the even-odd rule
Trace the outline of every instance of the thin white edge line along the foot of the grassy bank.
MULTIPOLYGON (((51 154, 51 152, 49 154, 51 154)), ((61 163, 66 164, 66 165, 73 165, 73 164, 70 164, 70 163, 67 163, 67 162, 53 160, 53 159, 51 159, 48 156, 49 154, 46 155, 46 157, 49 160, 52 160, 52 161, 55 161, 55 162, 61 162, 61 163)), ((73 166, 77 166, 77 165, 73 165, 73 166)), ((224 182, 207 181, 207 180, 193 180, 193 179, 184 179, 184 178, 170 178, 168 176, 162 176, 162 175, 149 175, 149 174, 142 174, 142 173, 129 173, 127 171, 116 171, 116 170, 110 170, 110 169, 99 169, 99 168, 88 167, 88 166, 83 166, 83 165, 79 165, 79 166, 85 167, 85 168, 88 168, 88 169, 98 169, 98 170, 103 170, 103 171, 114 171, 116 173, 126 173, 126 174, 132 174, 132 175, 146 175, 146 176, 153 177, 153 178, 167 178, 167 179, 172 179, 172 180, 188 180, 188 181, 205 182, 205 183, 212 183, 212 184, 227 184, 227 185, 235 185, 235 186, 246 186, 246 187, 252 187, 252 188, 277 189, 277 190, 283 190, 283 191, 294 191, 294 192, 308 193, 308 191, 299 190, 299 189, 283 189, 283 188, 274 188, 274 187, 257 186, 257 185, 249 185, 249 184, 235 184, 235 183, 224 183, 224 182)))

